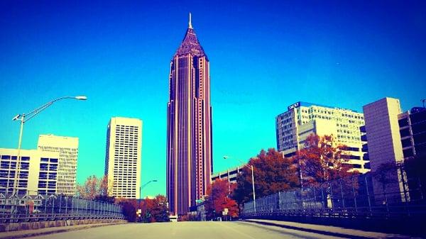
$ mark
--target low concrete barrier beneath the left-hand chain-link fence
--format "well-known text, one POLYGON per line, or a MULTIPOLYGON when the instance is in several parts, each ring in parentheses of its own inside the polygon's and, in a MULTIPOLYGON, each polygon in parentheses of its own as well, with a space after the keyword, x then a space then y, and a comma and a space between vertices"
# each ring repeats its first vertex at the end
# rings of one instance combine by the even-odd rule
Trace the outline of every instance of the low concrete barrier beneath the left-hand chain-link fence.
POLYGON ((53 228, 58 226, 75 226, 99 223, 127 223, 127 221, 121 219, 81 219, 65 221, 33 221, 29 223, 2 223, 0 224, 0 232, 7 232, 13 230, 35 230, 40 228, 53 228))

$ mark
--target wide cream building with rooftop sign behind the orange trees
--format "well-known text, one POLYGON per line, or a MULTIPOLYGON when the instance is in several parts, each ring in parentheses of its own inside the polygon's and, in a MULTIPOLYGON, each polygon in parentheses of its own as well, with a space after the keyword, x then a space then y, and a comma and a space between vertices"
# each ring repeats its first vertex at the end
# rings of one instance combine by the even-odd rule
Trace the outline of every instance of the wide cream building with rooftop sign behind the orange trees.
POLYGON ((369 171, 368 157, 361 141, 363 113, 299 101, 275 118, 275 126, 277 148, 285 157, 304 148, 307 136, 312 133, 333 135, 337 144, 346 145, 347 163, 359 172, 369 171))

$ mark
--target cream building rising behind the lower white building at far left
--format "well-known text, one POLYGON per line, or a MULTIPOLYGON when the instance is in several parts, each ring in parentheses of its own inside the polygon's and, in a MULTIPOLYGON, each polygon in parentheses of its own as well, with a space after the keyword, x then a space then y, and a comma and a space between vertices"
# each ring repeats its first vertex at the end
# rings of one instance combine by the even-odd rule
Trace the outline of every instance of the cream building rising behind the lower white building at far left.
POLYGON ((40 135, 38 136, 38 150, 42 154, 43 152, 59 152, 56 193, 74 195, 77 179, 78 138, 40 135))

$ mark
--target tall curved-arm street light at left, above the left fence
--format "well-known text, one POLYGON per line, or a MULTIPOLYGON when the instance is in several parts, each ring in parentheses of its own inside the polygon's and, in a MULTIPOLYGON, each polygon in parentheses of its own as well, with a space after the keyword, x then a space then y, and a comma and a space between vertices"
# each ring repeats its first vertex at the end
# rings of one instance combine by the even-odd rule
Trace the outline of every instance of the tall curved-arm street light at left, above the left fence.
POLYGON ((56 101, 60 101, 61 99, 78 99, 78 100, 85 101, 87 100, 87 97, 86 96, 63 96, 58 99, 54 99, 53 101, 49 101, 46 104, 43 104, 43 106, 38 107, 37 109, 31 111, 30 113, 18 114, 17 116, 12 118, 12 121, 21 121, 21 130, 19 130, 19 140, 18 140, 18 155, 16 155, 16 172, 15 172, 13 189, 12 189, 13 195, 18 194, 18 174, 19 174, 19 170, 21 169, 21 142, 22 142, 23 124, 31 120, 31 118, 33 118, 38 113, 40 113, 44 109, 51 106, 56 101))

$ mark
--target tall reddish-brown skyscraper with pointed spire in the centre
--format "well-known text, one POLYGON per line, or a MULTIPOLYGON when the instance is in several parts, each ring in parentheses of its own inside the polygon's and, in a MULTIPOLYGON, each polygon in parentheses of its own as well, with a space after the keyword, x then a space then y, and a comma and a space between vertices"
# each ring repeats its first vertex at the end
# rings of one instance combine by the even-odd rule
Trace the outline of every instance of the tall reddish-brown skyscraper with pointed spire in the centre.
POLYGON ((212 174, 209 59, 192 28, 170 62, 167 197, 170 213, 184 215, 207 192, 212 174))

